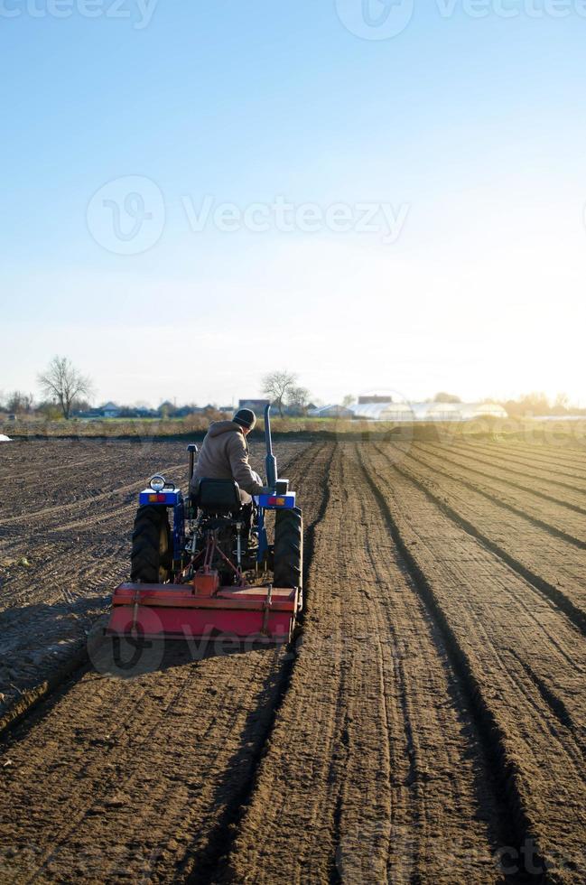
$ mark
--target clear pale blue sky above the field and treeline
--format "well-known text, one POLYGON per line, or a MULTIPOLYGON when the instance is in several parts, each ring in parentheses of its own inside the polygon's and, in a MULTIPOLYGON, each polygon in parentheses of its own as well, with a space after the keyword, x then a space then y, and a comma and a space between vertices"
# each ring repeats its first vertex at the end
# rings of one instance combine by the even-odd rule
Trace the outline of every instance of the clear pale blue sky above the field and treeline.
POLYGON ((577 3, 415 3, 368 39, 408 2, 51 2, 0 3, 0 390, 60 353, 98 401, 290 368, 323 401, 586 402, 577 3))

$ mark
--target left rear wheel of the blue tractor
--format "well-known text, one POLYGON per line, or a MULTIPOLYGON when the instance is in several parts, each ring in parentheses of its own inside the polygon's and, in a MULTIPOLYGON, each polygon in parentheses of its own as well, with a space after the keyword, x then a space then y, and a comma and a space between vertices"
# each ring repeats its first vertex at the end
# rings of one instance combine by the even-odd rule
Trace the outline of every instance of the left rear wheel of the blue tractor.
POLYGON ((130 563, 132 582, 158 584, 169 581, 172 540, 167 508, 149 505, 138 508, 132 533, 130 563))

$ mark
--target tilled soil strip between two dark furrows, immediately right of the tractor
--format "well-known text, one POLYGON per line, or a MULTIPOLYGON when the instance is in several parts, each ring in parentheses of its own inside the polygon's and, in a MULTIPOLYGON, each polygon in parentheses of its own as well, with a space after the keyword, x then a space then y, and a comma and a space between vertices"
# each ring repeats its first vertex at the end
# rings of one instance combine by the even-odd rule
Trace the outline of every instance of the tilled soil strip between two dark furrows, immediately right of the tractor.
POLYGON ((502 809, 437 625, 339 445, 290 690, 214 881, 494 882, 502 809))

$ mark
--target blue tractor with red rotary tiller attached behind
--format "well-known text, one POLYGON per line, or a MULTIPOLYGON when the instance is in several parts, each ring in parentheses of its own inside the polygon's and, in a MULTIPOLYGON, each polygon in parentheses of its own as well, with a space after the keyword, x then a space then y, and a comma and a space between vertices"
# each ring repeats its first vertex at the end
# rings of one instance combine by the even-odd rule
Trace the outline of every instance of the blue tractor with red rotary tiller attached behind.
MULTIPOLYGON (((108 636, 291 638, 302 610, 302 510, 277 475, 269 405, 265 443, 267 491, 253 498, 252 517, 234 480, 203 478, 184 496, 163 475, 151 478, 139 495, 130 582, 113 593, 108 636)), ((188 452, 191 489, 197 446, 188 452)))

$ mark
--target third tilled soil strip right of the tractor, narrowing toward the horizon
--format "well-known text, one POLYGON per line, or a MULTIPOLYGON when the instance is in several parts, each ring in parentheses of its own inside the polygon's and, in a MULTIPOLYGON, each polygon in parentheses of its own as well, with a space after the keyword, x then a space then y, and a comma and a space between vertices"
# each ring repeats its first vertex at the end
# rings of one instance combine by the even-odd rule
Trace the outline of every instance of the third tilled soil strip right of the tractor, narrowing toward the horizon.
MULTIPOLYGON (((496 554, 499 559, 512 568, 520 577, 524 578, 526 582, 532 584, 536 592, 539 592, 555 606, 563 610, 573 625, 586 635, 586 566, 583 557, 576 555, 572 547, 567 548, 560 545, 559 542, 554 547, 548 547, 546 545, 549 542, 549 538, 545 538, 545 545, 541 545, 539 556, 534 554, 535 559, 531 560, 530 554, 535 545, 527 544, 527 526, 523 526, 522 523, 519 524, 516 520, 511 520, 507 515, 507 510, 504 514, 502 509, 498 513, 498 509, 504 507, 498 499, 494 501, 494 504, 490 501, 495 512, 490 514, 490 511, 488 511, 488 515, 491 518, 488 520, 488 525, 485 525, 480 530, 478 526, 478 512, 481 512, 486 517, 487 508, 483 506, 484 502, 480 497, 482 493, 479 492, 479 489, 475 489, 471 483, 465 480, 460 480, 461 484, 469 491, 465 499, 459 498, 455 494, 454 489, 446 488, 442 480, 438 480, 438 475, 441 474, 442 476, 449 477, 452 483, 458 484, 459 480, 452 479, 451 474, 445 473, 442 470, 432 470, 425 461, 415 456, 413 452, 408 452, 407 461, 414 461, 416 465, 414 468, 415 472, 413 472, 405 468, 405 461, 399 466, 389 452, 381 449, 380 446, 377 448, 394 465, 395 470, 398 470, 406 479, 412 480, 428 494, 447 517, 450 517, 453 522, 468 532, 470 536, 477 538, 481 544, 496 554), (421 476, 422 469, 423 477, 421 476), (417 470, 419 470, 419 473, 417 470), (433 489, 437 489, 437 492, 433 489), (438 493, 442 493, 443 496, 447 495, 448 498, 441 498, 438 493), (460 509, 455 509, 454 507, 460 509), (464 513, 471 517, 475 509, 477 522, 471 522, 470 518, 465 516, 464 513), (494 524, 492 520, 494 520, 494 524), (490 535, 488 535, 488 531, 490 535), (498 540, 495 540, 495 537, 498 537, 498 540), (527 555, 527 552, 529 555, 527 555), (568 568, 568 564, 572 566, 571 569, 568 568), (538 568, 541 568, 541 572, 535 571, 538 568), (547 580, 544 574, 548 575, 550 580, 547 580), (569 582, 570 584, 571 589, 569 592, 571 595, 568 595, 567 590, 561 590, 560 586, 558 586, 562 583, 560 580, 562 576, 564 582, 569 582)), ((486 497, 488 498, 488 496, 486 497)), ((488 499, 490 500, 490 498, 488 499)))

